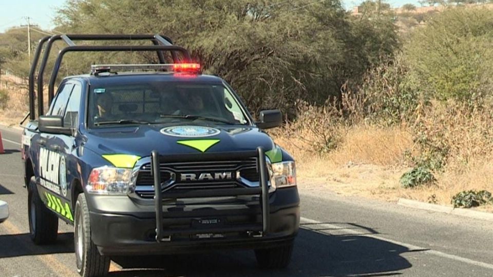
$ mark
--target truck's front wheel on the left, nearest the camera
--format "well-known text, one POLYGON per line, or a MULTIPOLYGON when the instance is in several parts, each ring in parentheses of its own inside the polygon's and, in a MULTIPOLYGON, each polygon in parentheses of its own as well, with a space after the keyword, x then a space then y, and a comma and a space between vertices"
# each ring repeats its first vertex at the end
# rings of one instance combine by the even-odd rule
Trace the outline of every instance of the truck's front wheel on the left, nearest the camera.
POLYGON ((75 203, 74 248, 77 272, 83 277, 104 276, 109 271, 111 260, 99 253, 91 239, 91 223, 86 196, 80 193, 75 203))

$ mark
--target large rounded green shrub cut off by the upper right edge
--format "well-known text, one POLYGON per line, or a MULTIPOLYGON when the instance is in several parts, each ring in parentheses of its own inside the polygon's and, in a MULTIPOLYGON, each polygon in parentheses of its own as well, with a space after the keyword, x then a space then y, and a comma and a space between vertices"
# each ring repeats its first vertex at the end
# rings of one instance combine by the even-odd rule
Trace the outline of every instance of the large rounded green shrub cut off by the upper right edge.
POLYGON ((453 8, 417 28, 404 46, 412 74, 430 96, 473 101, 491 94, 493 13, 453 8))

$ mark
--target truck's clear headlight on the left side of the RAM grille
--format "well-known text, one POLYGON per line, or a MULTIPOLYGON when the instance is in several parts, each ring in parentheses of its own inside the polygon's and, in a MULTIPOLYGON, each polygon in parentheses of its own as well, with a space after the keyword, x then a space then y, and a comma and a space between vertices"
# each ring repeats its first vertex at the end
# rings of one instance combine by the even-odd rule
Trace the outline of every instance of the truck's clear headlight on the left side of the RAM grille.
POLYGON ((126 194, 130 185, 129 168, 98 167, 89 175, 86 189, 89 193, 97 194, 126 194))

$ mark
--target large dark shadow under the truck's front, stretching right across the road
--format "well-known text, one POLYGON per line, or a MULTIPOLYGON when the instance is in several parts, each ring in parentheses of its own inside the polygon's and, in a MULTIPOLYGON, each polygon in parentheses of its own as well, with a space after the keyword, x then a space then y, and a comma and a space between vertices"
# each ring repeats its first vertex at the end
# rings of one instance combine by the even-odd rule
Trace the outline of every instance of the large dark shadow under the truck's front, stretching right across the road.
MULTIPOLYGON (((369 230, 369 229, 367 229, 369 230)), ((408 248, 361 235, 329 235, 301 229, 290 266, 260 270, 253 251, 117 259, 125 268, 109 276, 388 276, 412 265, 401 256, 408 248)))

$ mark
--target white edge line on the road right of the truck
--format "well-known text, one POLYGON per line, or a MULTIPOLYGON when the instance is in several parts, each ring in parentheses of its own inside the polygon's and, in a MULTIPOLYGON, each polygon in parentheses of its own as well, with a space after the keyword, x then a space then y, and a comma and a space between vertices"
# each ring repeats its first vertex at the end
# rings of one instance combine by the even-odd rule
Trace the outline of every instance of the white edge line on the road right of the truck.
MULTIPOLYGON (((317 225, 316 226, 317 228, 318 227, 321 227, 321 229, 338 229, 338 230, 344 230, 344 232, 349 233, 349 234, 366 236, 368 238, 372 238, 372 239, 375 239, 375 240, 381 240, 381 241, 385 241, 385 242, 389 242, 389 243, 401 245, 401 246, 404 246, 404 247, 408 248, 410 251, 421 250, 423 253, 432 254, 432 255, 435 255, 435 256, 442 257, 442 258, 447 258, 447 259, 450 259, 450 260, 459 261, 459 262, 463 262, 463 263, 466 263, 466 264, 475 265, 475 266, 479 266, 479 267, 483 267, 483 268, 487 268, 487 269, 492 269, 493 270, 493 264, 487 264, 487 263, 483 263, 483 262, 479 262, 479 261, 475 261, 475 260, 463 258, 461 256, 447 254, 447 253, 440 252, 440 251, 437 251, 437 250, 431 250, 431 249, 419 247, 419 246, 408 244, 408 243, 403 243, 403 242, 394 241, 394 240, 391 240, 391 239, 386 239, 386 238, 383 238, 381 236, 374 235, 374 234, 368 234, 368 233, 364 233, 364 232, 356 231, 356 230, 352 230, 352 229, 344 229, 344 227, 341 227, 341 226, 337 226, 337 225, 334 225, 334 224, 328 224, 328 223, 322 223, 322 222, 319 222, 319 221, 316 221, 316 220, 307 219, 306 217, 301 217, 301 224, 308 224, 308 226, 304 226, 304 227, 306 227, 306 228, 308 228, 308 229, 310 229, 312 231, 318 232, 318 233, 324 233, 324 232, 322 230, 317 231, 316 228, 310 228, 310 225, 311 224, 313 224, 313 225, 316 224, 317 225)), ((327 234, 327 233, 324 233, 324 234, 327 234)))

